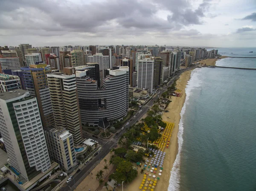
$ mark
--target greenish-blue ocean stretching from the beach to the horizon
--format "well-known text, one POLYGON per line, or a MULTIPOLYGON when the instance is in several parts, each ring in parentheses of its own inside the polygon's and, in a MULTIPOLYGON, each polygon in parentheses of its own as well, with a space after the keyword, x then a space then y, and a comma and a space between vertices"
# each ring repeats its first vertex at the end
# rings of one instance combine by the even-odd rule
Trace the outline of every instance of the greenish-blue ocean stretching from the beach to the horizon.
MULTIPOLYGON (((256 48, 218 51, 256 57, 256 48)), ((256 58, 225 58, 216 66, 256 68, 256 58)), ((255 83, 256 70, 192 71, 168 191, 256 191, 255 83)))

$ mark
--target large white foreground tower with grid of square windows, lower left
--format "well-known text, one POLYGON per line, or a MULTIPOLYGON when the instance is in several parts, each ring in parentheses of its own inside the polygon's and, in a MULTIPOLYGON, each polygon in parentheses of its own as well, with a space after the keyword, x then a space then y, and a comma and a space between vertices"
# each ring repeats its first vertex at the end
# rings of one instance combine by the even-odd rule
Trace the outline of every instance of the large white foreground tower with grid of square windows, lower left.
POLYGON ((10 168, 26 180, 51 168, 37 100, 25 90, 0 93, 0 132, 10 168))

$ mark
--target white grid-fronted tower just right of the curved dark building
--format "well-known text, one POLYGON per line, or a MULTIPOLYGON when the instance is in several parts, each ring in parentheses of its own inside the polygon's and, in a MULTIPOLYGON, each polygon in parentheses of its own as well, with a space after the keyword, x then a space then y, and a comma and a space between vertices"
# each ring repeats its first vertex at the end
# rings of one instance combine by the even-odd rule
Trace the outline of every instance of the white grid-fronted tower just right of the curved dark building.
POLYGON ((154 59, 144 58, 138 60, 138 88, 148 89, 151 94, 154 85, 154 59))

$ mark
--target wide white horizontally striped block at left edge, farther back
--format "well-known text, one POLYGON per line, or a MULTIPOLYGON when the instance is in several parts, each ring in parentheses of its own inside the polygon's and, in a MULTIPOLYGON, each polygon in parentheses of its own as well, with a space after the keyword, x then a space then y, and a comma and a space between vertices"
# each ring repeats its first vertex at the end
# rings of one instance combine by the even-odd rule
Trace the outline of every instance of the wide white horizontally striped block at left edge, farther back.
POLYGON ((3 73, 3 70, 11 69, 19 70, 20 69, 20 59, 19 57, 4 57, 0 54, 0 73, 3 73))

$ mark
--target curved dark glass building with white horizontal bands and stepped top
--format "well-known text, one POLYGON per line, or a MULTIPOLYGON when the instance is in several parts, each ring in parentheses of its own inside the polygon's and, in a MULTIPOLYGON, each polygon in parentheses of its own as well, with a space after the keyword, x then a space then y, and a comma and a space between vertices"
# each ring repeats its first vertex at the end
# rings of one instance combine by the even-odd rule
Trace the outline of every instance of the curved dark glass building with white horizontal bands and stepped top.
POLYGON ((81 122, 105 129, 110 125, 109 121, 120 120, 127 114, 128 72, 123 69, 105 70, 102 81, 101 88, 88 70, 76 71, 81 122))

